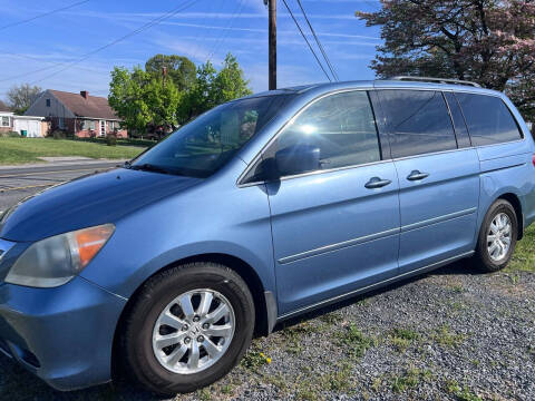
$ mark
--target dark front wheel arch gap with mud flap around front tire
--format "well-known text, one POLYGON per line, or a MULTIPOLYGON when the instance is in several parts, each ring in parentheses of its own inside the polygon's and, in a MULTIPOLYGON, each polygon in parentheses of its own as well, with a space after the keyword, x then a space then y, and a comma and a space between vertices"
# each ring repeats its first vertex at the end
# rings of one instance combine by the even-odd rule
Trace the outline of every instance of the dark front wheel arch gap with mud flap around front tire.
POLYGON ((276 301, 274 294, 271 291, 265 291, 264 285, 255 272, 255 270, 244 262, 243 260, 222 253, 206 253, 200 254, 194 256, 184 257, 182 260, 175 261, 158 271, 154 272, 150 276, 146 277, 146 280, 139 284, 136 291, 132 294, 126 303, 123 312, 119 316, 118 323, 115 329, 114 333, 114 343, 111 350, 111 372, 113 374, 117 373, 120 370, 120 366, 117 365, 118 361, 118 353, 120 352, 120 332, 124 327, 125 319, 128 315, 132 305, 134 304, 134 300, 138 296, 140 288, 143 285, 150 280, 154 275, 166 271, 168 268, 175 267, 177 265, 183 265, 187 263, 194 262, 212 262, 222 264, 226 267, 232 268, 236 272, 243 281, 247 284, 251 295, 253 296, 254 302, 254 310, 255 310, 255 326, 254 326, 254 335, 268 335, 273 330, 273 326, 276 322, 278 311, 276 311, 276 301))

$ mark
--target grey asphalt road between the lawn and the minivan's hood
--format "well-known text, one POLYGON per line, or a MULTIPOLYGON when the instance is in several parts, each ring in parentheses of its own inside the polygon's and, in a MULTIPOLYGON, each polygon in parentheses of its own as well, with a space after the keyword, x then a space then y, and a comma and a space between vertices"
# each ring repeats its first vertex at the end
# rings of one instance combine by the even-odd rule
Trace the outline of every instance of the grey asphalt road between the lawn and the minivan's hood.
POLYGON ((0 211, 52 185, 116 167, 118 162, 0 168, 0 211))

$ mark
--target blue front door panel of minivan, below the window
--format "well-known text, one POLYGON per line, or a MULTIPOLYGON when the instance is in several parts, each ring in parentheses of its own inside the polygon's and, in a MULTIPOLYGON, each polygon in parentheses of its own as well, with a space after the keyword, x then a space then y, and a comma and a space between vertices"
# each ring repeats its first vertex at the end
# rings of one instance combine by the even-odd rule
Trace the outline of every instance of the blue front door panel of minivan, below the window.
POLYGON ((392 162, 268 184, 281 314, 398 274, 398 188, 392 162))

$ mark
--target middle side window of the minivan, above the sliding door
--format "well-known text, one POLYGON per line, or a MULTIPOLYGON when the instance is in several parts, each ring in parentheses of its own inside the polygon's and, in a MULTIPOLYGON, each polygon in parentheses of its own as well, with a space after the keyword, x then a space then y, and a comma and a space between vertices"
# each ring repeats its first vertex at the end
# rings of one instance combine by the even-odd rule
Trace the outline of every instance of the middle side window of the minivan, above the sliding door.
POLYGON ((440 91, 378 90, 393 158, 457 148, 440 91))

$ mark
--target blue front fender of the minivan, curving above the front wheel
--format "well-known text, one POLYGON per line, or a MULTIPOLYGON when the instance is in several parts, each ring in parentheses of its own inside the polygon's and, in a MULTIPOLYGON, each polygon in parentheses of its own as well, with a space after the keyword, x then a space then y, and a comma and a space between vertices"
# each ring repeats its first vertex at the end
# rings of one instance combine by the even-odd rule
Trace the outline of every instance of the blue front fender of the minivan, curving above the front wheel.
POLYGON ((270 211, 261 187, 206 185, 144 208, 116 224, 111 238, 81 275, 128 299, 159 270, 205 254, 242 260, 265 291, 276 293, 270 211))

